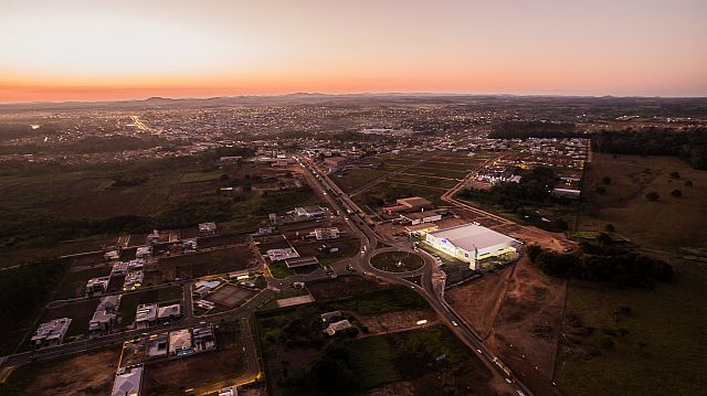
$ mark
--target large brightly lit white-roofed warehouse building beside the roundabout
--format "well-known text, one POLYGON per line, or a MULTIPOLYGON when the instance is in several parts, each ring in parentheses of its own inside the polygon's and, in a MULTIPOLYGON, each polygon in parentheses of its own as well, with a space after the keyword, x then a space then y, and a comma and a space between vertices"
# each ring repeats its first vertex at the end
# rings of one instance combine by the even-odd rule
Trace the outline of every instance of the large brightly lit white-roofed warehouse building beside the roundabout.
POLYGON ((478 269, 478 261, 489 257, 515 254, 521 243, 475 224, 435 231, 426 234, 425 240, 434 248, 469 264, 478 269))

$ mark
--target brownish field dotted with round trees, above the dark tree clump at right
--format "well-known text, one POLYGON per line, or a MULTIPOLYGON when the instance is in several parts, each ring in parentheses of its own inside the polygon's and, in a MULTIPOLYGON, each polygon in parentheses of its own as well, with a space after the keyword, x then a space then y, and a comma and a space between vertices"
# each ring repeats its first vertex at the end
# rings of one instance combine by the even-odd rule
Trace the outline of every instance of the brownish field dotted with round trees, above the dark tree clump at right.
POLYGON ((598 153, 588 169, 584 190, 592 211, 581 217, 582 231, 603 231, 612 224, 616 235, 662 249, 707 243, 707 172, 677 158, 598 153), (672 172, 680 178, 671 178, 672 172), (604 176, 611 178, 611 184, 602 183, 604 176), (685 185, 687 181, 693 185, 685 185), (595 193, 598 186, 606 192, 595 193), (683 197, 672 197, 673 190, 680 190, 683 197), (659 194, 657 202, 645 199, 651 191, 659 194))

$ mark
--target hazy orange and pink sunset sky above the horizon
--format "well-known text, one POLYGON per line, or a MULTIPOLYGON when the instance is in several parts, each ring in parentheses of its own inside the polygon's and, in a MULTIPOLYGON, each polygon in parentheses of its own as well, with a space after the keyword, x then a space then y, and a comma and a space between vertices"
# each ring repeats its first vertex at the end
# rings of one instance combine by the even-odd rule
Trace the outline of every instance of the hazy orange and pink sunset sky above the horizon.
POLYGON ((705 0, 0 0, 0 101, 707 96, 705 0))

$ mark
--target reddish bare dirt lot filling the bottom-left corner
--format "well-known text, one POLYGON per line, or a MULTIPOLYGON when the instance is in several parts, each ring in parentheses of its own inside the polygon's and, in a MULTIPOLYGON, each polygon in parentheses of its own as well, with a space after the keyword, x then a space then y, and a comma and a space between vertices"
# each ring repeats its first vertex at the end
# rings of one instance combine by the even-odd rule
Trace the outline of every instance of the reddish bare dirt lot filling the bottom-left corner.
POLYGON ((20 366, 0 395, 108 395, 119 355, 114 346, 20 366))

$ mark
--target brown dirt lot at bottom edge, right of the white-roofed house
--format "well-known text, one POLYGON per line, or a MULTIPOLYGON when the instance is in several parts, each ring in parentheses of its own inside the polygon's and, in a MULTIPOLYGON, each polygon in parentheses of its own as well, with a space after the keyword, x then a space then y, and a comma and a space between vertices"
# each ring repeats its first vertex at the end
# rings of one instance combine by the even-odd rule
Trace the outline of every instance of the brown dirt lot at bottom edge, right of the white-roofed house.
POLYGON ((141 394, 178 395, 188 388, 194 388, 196 394, 215 390, 232 385, 245 371, 240 328, 238 323, 222 323, 217 331, 215 351, 148 364, 141 394))

